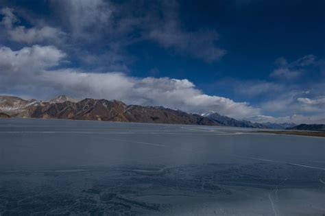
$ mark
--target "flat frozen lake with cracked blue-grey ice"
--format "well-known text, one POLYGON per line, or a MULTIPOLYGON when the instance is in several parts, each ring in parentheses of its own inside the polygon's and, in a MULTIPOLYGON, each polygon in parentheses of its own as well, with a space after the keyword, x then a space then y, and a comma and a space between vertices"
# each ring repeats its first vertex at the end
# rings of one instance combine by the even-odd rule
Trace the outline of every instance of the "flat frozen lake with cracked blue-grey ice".
POLYGON ((325 139, 0 119, 0 215, 323 215, 325 139))

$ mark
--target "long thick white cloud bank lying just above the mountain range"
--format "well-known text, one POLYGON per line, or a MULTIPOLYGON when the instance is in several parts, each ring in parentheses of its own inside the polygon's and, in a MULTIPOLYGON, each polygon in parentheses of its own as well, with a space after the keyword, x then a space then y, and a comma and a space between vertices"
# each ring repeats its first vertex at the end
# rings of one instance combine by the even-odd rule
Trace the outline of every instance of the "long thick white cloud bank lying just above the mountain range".
POLYGON ((260 114, 248 103, 206 95, 189 80, 136 78, 124 73, 86 73, 49 67, 60 64, 64 53, 55 47, 0 49, 0 91, 29 91, 31 96, 49 97, 64 93, 73 97, 119 99, 128 104, 163 105, 187 112, 217 111, 222 115, 247 118, 260 114), (23 77, 23 79, 21 79, 23 77), (2 80, 10 80, 3 82, 2 80))

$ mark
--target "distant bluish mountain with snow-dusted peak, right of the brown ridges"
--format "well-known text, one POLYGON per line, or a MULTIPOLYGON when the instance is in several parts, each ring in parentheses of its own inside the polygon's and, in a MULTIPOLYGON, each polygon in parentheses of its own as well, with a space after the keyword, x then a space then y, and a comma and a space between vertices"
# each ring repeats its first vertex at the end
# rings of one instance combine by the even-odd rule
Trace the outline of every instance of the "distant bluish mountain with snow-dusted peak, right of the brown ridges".
POLYGON ((268 128, 261 123, 252 123, 251 121, 237 120, 224 115, 219 115, 217 112, 208 112, 203 117, 210 119, 211 121, 218 123, 219 125, 241 127, 241 128, 268 128))

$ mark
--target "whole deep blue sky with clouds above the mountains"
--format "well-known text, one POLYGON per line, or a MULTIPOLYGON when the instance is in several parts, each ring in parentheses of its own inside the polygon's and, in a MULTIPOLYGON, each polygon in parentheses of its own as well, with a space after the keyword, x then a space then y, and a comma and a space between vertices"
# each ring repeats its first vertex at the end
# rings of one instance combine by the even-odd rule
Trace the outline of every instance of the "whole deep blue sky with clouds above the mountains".
POLYGON ((325 123, 325 1, 1 0, 0 95, 325 123))

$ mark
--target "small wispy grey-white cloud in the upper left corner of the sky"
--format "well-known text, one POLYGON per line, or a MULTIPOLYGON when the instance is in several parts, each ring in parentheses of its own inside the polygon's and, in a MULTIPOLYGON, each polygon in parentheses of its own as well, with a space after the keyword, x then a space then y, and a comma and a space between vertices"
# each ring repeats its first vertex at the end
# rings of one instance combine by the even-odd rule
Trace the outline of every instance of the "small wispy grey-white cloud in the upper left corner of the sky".
POLYGON ((40 43, 47 40, 60 40, 64 33, 59 29, 49 26, 27 28, 19 23, 19 19, 14 15, 11 8, 2 8, 0 14, 3 14, 1 24, 5 27, 5 32, 9 39, 27 44, 40 43))

